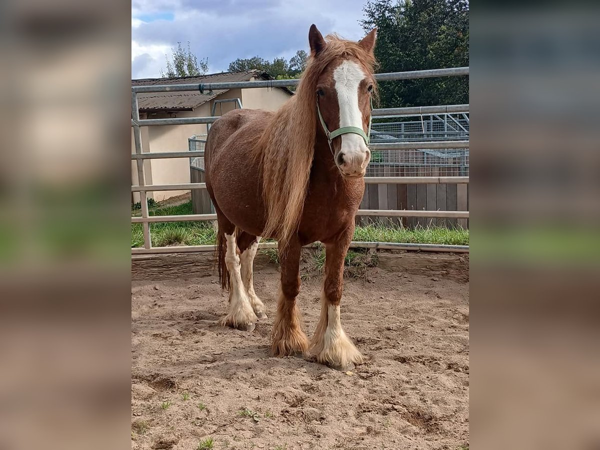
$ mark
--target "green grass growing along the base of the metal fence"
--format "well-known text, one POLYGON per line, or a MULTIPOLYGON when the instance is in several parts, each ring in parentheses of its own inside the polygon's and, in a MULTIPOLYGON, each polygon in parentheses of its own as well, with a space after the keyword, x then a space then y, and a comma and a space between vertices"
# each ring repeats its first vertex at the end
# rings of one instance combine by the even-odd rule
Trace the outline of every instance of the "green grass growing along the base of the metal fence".
MULTIPOLYGON (((191 202, 176 206, 155 206, 150 215, 188 215, 194 214, 191 202)), ((132 211, 140 215, 139 211, 132 211)), ((217 241, 217 227, 212 221, 151 223, 152 245, 214 245, 217 241)), ((397 224, 368 224, 357 226, 353 241, 367 242, 407 242, 411 244, 447 244, 469 245, 469 230, 438 226, 415 227, 408 229, 397 224)), ((266 239, 268 241, 268 239, 266 239)), ((143 228, 141 223, 131 224, 131 247, 143 247, 143 228)), ((277 249, 263 250, 273 263, 279 262, 277 249)), ((324 256, 316 256, 313 265, 322 270, 324 256)), ((351 257, 352 258, 352 257, 351 257)), ((352 261, 346 256, 348 266, 352 261)))

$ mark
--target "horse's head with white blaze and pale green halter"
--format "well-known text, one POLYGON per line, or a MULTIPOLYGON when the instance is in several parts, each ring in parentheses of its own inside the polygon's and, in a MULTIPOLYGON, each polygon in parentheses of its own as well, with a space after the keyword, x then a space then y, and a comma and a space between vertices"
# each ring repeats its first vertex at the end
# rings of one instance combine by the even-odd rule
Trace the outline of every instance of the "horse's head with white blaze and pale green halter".
MULTIPOLYGON (((377 29, 358 43, 346 42, 348 51, 325 65, 317 80, 317 128, 328 137, 334 161, 342 175, 365 175, 371 159, 368 134, 371 122, 371 95, 375 86, 372 64, 377 29)), ((326 41, 316 26, 311 26, 308 41, 312 58, 327 58, 326 41)), ((338 44, 338 43, 336 43, 338 44)))

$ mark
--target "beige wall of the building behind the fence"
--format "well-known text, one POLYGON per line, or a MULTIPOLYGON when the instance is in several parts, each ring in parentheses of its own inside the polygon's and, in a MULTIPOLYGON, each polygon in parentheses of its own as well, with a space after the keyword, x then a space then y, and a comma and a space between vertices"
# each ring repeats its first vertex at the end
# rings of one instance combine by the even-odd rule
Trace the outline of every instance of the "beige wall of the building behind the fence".
MULTIPOLYGON (((281 89, 230 89, 219 95, 215 100, 226 98, 241 98, 242 106, 250 109, 277 110, 290 95, 281 89)), ((197 107, 194 111, 178 113, 153 113, 146 117, 141 113, 142 119, 167 119, 182 117, 210 116, 214 101, 209 101, 197 107)), ((233 102, 218 103, 215 115, 220 116, 236 105, 233 102)), ((161 125, 158 127, 142 127, 143 152, 179 152, 188 150, 188 138, 194 134, 206 134, 206 125, 161 125)), ((131 134, 131 152, 135 152, 133 129, 131 134)), ((174 184, 190 182, 190 160, 188 158, 172 158, 160 160, 146 160, 144 165, 146 184, 174 184)), ((131 163, 131 183, 137 184, 136 162, 131 163)), ((189 191, 155 191, 148 192, 148 197, 157 200, 185 194, 189 191)), ((139 202, 139 193, 133 194, 133 202, 139 202)))

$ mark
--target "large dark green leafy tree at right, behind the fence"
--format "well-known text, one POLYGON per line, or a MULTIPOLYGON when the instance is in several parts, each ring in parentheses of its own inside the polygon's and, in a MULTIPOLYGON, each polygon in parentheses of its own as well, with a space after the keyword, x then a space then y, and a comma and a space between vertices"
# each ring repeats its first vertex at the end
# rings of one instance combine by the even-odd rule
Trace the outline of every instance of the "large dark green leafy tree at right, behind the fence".
MULTIPOLYGON (((377 26, 378 72, 469 65, 468 0, 369 0, 365 31, 377 26)), ((468 77, 379 83, 382 107, 469 103, 468 77)))

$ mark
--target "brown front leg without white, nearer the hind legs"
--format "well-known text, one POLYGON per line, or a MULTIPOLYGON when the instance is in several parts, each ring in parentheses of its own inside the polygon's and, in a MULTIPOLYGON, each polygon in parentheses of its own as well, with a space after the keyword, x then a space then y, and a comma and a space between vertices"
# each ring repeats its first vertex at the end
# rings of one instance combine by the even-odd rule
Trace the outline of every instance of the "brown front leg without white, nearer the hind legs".
POLYGON ((300 243, 293 239, 285 251, 280 251, 281 289, 277 299, 277 314, 271 334, 271 352, 287 356, 308 351, 308 339, 302 331, 296 296, 300 292, 300 243))

